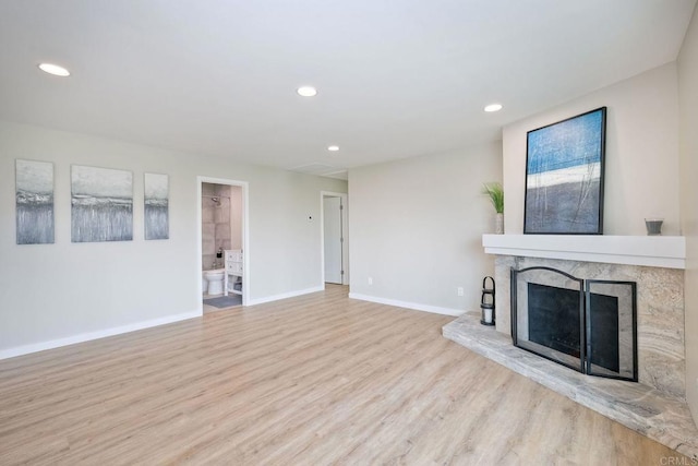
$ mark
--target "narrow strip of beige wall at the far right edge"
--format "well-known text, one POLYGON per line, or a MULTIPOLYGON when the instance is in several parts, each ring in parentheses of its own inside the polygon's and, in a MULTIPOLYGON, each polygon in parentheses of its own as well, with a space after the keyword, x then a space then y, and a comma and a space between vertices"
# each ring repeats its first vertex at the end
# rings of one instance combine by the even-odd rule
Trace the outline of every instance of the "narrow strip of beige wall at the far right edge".
POLYGON ((698 9, 678 56, 681 217, 686 236, 686 398, 698 425, 698 9))

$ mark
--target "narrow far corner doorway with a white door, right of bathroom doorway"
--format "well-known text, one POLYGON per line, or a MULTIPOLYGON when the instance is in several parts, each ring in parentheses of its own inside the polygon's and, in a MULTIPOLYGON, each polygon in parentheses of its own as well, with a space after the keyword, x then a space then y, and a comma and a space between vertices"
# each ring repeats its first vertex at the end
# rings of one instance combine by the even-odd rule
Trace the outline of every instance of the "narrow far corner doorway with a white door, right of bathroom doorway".
POLYGON ((347 194, 322 192, 323 284, 349 284, 349 236, 347 194))

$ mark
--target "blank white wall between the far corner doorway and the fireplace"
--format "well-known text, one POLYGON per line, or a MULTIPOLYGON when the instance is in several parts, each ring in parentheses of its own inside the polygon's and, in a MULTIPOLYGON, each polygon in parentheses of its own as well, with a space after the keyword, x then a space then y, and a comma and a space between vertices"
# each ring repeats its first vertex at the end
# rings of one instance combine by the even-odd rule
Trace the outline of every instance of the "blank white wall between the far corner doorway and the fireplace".
POLYGON ((349 170, 350 296, 479 310, 482 277, 494 271, 482 249, 494 208, 481 191, 502 180, 501 151, 492 143, 349 170))

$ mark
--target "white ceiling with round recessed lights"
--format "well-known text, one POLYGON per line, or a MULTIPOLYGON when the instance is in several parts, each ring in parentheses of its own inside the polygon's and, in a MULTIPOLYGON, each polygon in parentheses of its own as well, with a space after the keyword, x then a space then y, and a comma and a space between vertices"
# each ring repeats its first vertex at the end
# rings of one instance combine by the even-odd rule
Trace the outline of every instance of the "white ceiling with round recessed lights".
POLYGON ((338 171, 498 140, 671 62, 695 3, 1 0, 0 118, 338 171))

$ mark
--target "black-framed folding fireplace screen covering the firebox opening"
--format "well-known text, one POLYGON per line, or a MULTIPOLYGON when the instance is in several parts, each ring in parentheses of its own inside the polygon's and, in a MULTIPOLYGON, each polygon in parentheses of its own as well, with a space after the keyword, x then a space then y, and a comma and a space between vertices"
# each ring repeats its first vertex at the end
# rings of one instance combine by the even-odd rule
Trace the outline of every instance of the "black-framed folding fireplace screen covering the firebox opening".
POLYGON ((590 375, 638 381, 636 283, 512 268, 514 345, 590 375))

